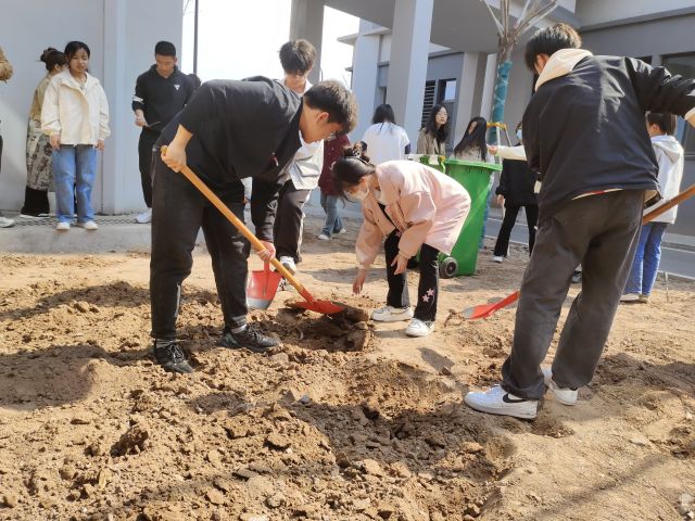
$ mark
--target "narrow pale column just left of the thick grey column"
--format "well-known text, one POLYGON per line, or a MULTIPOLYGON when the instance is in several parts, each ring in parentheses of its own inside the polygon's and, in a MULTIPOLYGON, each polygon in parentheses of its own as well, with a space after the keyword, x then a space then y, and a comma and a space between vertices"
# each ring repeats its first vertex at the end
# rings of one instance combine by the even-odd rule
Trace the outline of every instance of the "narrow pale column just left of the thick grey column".
POLYGON ((379 43, 381 37, 365 36, 362 33, 371 24, 359 21, 359 36, 355 41, 352 58, 352 90, 357 98, 359 116, 357 126, 352 132, 351 141, 362 139, 371 120, 371 113, 377 101, 376 85, 379 76, 379 43))

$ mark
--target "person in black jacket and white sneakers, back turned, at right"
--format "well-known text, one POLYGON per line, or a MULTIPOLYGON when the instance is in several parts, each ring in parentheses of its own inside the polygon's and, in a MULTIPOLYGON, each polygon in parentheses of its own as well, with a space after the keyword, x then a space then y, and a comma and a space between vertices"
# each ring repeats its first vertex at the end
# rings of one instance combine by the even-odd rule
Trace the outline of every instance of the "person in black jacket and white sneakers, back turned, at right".
POLYGON ((526 63, 540 76, 523 114, 523 147, 541 173, 539 231, 521 283, 503 381, 466 395, 473 409, 532 419, 547 386, 577 403, 604 350, 640 233, 645 202, 658 198, 646 111, 695 126, 695 80, 631 58, 594 56, 566 24, 539 30, 526 63), (571 305, 553 367, 541 369, 574 268, 571 305))

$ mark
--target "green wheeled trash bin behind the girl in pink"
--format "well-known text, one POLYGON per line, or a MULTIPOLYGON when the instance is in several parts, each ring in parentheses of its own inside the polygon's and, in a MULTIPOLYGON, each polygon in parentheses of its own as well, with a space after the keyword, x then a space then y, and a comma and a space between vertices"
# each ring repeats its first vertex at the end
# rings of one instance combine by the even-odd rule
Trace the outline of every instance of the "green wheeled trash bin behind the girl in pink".
POLYGON ((446 160, 446 175, 458 181, 470 195, 470 212, 451 255, 440 257, 440 276, 473 275, 478 263, 478 245, 482 233, 483 215, 490 194, 490 176, 502 165, 472 161, 446 160))

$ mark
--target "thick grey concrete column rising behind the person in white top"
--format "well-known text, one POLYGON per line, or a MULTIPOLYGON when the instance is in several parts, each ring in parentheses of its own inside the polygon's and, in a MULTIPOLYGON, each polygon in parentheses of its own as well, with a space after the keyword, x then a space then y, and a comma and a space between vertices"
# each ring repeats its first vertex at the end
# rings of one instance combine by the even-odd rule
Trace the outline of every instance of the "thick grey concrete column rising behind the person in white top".
POLYGON ((387 103, 412 143, 422 118, 433 5, 434 0, 399 0, 393 13, 387 103))

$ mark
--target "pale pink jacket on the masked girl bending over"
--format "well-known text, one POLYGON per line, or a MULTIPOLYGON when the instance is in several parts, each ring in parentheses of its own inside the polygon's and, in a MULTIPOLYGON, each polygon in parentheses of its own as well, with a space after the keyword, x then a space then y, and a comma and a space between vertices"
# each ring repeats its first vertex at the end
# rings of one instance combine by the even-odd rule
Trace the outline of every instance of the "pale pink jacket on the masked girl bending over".
POLYGON ((414 256, 422 244, 451 253, 470 209, 464 187, 444 174, 415 161, 388 161, 377 166, 380 201, 374 192, 362 202, 365 220, 357 237, 357 264, 368 269, 383 238, 399 229, 399 250, 414 256), (389 220, 389 218, 391 220, 389 220))

